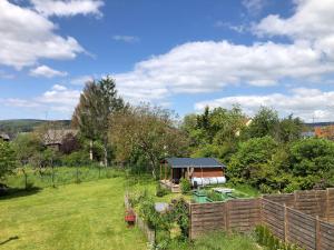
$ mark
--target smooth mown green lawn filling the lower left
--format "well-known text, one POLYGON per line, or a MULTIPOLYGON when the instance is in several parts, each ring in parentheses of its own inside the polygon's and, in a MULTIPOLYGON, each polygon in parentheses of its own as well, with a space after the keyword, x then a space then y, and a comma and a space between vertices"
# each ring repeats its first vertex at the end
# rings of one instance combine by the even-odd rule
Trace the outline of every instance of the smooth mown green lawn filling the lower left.
POLYGON ((125 179, 111 178, 2 198, 0 250, 147 249, 124 222, 124 190, 125 179))

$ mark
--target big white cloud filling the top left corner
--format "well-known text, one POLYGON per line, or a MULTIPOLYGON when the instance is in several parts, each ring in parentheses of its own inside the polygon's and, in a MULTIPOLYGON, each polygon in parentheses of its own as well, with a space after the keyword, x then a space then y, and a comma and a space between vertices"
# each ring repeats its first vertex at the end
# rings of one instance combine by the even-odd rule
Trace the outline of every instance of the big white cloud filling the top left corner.
POLYGON ((0 1, 0 64, 21 69, 39 59, 73 59, 84 52, 72 37, 55 33, 57 26, 29 8, 0 1))

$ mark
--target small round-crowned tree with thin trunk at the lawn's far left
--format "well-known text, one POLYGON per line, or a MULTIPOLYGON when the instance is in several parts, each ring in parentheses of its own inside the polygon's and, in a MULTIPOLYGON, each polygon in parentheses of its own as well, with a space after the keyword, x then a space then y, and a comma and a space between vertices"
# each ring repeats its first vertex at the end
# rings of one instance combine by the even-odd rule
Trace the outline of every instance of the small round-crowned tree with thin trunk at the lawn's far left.
POLYGON ((42 142, 36 133, 19 133, 13 141, 13 149, 24 176, 26 189, 28 188, 28 173, 26 167, 32 161, 35 154, 42 151, 42 142))

